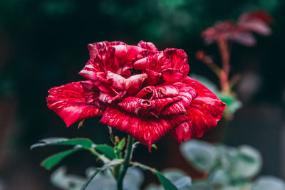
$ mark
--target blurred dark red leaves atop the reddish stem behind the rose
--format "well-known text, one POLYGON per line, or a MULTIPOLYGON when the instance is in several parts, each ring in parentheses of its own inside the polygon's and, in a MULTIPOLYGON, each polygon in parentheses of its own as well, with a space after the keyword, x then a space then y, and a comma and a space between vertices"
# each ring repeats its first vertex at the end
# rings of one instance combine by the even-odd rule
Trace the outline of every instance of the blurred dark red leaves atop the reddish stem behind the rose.
POLYGON ((219 40, 228 40, 244 46, 254 46, 256 40, 252 32, 259 33, 262 36, 269 36, 271 28, 268 25, 271 23, 273 23, 273 19, 265 11, 252 11, 239 16, 236 24, 232 21, 215 23, 214 26, 202 32, 202 37, 207 44, 219 40))

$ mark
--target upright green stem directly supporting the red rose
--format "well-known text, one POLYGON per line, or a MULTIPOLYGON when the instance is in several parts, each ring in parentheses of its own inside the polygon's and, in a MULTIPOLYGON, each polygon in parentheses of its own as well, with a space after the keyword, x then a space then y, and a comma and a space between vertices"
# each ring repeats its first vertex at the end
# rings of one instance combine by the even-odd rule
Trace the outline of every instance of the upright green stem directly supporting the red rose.
POLYGON ((122 171, 120 171, 120 175, 117 179, 118 190, 123 190, 123 179, 125 177, 125 174, 127 173, 128 167, 130 167, 130 159, 132 157, 132 153, 133 153, 133 137, 128 135, 128 144, 127 144, 127 149, 125 151, 123 169, 122 171))

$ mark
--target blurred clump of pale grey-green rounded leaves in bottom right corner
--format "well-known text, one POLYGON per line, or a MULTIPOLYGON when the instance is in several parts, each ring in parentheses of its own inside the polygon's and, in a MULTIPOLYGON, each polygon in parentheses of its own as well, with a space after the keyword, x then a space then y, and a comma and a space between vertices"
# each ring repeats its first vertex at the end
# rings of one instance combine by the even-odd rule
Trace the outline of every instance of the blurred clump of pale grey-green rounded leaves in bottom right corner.
POLYGON ((206 179, 194 181, 190 190, 285 189, 284 181, 274 176, 253 180, 262 159, 259 151, 248 145, 235 148, 192 139, 182 143, 181 152, 193 167, 207 174, 206 179))

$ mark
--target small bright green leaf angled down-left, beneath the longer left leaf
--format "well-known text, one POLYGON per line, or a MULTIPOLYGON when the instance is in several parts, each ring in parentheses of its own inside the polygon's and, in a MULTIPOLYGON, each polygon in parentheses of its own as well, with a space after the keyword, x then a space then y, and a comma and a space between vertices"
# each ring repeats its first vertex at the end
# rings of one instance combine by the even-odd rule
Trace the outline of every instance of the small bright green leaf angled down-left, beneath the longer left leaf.
POLYGON ((41 166, 45 167, 46 169, 51 169, 54 167, 58 162, 61 162, 61 160, 68 156, 69 154, 72 154, 73 152, 78 151, 79 149, 68 149, 63 152, 59 152, 58 154, 53 154, 51 157, 48 157, 41 162, 41 166))

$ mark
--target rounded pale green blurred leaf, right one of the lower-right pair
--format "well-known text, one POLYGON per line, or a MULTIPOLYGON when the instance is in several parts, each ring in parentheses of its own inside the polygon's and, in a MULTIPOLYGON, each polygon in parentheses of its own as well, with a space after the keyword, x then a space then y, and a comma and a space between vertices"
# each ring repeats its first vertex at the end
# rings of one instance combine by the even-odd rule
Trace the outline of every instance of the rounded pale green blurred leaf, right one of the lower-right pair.
POLYGON ((232 165, 232 177, 234 179, 250 179, 260 171, 261 165, 261 154, 258 150, 242 145, 238 148, 237 159, 232 165))

